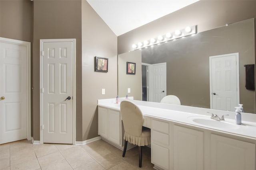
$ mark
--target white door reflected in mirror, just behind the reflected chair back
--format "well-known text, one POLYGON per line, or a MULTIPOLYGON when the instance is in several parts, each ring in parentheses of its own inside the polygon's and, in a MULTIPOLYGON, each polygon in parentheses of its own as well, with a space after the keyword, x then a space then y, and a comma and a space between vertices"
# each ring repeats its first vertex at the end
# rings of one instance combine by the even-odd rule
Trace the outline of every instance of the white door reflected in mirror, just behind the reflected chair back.
POLYGON ((166 63, 151 65, 152 95, 150 102, 160 102, 166 96, 166 63))

